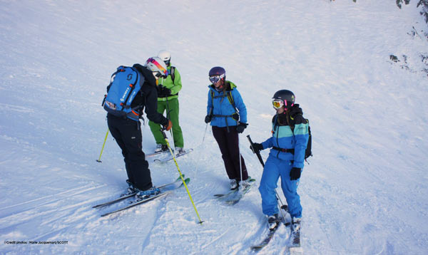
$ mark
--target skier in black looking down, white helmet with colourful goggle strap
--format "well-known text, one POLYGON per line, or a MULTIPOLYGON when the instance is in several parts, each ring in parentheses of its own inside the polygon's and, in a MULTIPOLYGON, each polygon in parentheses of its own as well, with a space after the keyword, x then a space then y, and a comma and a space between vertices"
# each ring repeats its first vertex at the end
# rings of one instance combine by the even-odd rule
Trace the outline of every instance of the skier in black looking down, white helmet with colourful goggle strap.
MULTIPOLYGON (((166 76, 168 71, 166 70, 165 63, 156 57, 149 58, 145 66, 141 66, 140 64, 133 65, 133 70, 138 71, 136 76, 143 76, 141 79, 144 82, 141 85, 141 90, 136 93, 135 98, 131 102, 132 111, 129 115, 115 115, 116 112, 114 109, 116 109, 116 105, 112 105, 106 101, 106 105, 113 107, 113 109, 108 109, 107 123, 111 135, 113 135, 122 150, 126 174, 128 175, 126 181, 129 185, 128 194, 137 192, 138 197, 146 198, 158 194, 160 190, 153 186, 151 181, 148 162, 142 150, 143 137, 141 135, 141 123, 138 118, 143 115, 143 109, 146 108, 145 112, 149 120, 160 123, 166 130, 170 130, 172 126, 170 120, 163 117, 156 110, 158 103, 156 83, 158 78, 166 76)), ((120 75, 117 74, 114 78, 118 76, 120 75)), ((132 74, 128 75, 128 79, 132 77, 132 74)), ((119 81, 115 83, 115 80, 113 80, 107 87, 107 93, 118 83, 119 81)), ((129 83, 126 83, 126 86, 128 85, 129 83)), ((133 87, 131 85, 129 88, 133 87)), ((113 95, 115 95, 116 88, 114 90, 113 95)), ((106 105, 104 108, 106 108, 106 105)))

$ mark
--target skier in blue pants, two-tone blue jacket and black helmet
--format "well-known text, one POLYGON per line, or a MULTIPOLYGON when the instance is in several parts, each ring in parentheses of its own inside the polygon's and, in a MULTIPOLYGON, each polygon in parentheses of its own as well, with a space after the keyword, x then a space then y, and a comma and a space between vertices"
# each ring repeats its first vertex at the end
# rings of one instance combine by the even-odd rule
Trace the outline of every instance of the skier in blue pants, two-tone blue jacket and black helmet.
POLYGON ((302 109, 295 104, 295 95, 290 90, 277 91, 272 104, 277 112, 272 118, 272 137, 250 147, 254 152, 271 148, 260 180, 262 209, 268 217, 269 229, 274 229, 279 223, 275 189, 281 177, 281 188, 292 224, 300 228, 302 205, 297 186, 305 162, 309 124, 302 116, 302 109))

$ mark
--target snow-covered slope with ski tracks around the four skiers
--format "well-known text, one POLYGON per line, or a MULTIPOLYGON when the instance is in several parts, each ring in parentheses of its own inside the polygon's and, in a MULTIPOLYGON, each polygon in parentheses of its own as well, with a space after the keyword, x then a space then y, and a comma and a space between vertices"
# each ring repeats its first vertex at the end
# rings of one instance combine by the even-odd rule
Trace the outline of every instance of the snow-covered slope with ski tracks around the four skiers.
MULTIPOLYGON (((258 190, 234 207, 213 199, 228 189, 209 128, 202 143, 213 66, 247 105, 240 145, 258 182, 245 136, 270 136, 273 93, 292 90, 310 119, 315 156, 299 187, 305 254, 427 254, 428 83, 417 57, 428 43, 407 34, 426 28, 416 4, 1 1, 0 254, 251 254, 266 233, 258 190), (95 161, 111 73, 161 49, 182 74, 180 122, 195 151, 178 164, 202 225, 185 189, 106 218, 114 207, 91 208, 126 188, 111 136, 95 161), (409 56, 413 71, 390 54, 409 56)), ((144 151, 155 146, 145 127, 144 151)), ((173 162, 149 163, 155 184, 178 176, 173 162)), ((282 228, 259 254, 287 254, 286 244, 282 228)))

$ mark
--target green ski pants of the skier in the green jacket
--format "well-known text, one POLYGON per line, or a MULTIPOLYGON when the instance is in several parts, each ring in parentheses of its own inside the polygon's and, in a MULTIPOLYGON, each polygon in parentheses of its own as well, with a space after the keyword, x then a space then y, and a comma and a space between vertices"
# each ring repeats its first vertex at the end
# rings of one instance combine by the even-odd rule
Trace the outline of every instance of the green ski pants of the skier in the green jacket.
MULTIPOLYGON (((166 110, 170 110, 167 118, 173 123, 173 136, 174 136, 174 146, 175 147, 184 147, 183 141, 183 132, 181 131, 180 123, 178 121, 179 104, 178 98, 173 98, 168 101, 158 101, 158 113, 163 114, 166 110)), ((161 125, 153 123, 153 121, 148 122, 148 126, 155 137, 156 144, 166 145, 165 140, 161 132, 161 125)))

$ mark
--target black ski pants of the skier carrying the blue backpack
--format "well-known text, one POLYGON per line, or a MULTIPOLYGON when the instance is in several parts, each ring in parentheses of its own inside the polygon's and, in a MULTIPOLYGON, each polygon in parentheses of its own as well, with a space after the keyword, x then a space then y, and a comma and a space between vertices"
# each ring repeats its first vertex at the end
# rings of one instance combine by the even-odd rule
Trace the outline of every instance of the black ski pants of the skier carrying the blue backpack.
POLYGON ((122 149, 128 180, 138 189, 150 189, 153 184, 148 162, 142 150, 141 123, 111 114, 107 115, 107 123, 111 135, 122 149))

